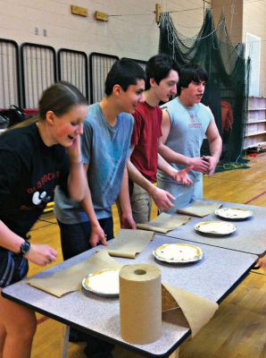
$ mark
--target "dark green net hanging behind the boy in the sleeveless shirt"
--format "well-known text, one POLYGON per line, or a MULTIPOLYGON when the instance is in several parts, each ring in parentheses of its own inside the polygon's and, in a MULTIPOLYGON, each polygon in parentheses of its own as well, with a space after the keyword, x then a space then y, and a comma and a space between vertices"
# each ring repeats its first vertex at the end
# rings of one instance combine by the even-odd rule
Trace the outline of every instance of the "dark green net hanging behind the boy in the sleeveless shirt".
MULTIPOLYGON (((245 61, 245 45, 233 45, 224 16, 214 28, 207 10, 201 30, 187 38, 175 29, 170 13, 162 13, 159 53, 174 57, 179 65, 202 64, 209 74, 202 102, 212 109, 223 141, 221 159, 237 162, 242 158, 248 102, 250 61, 245 61)), ((202 153, 209 153, 204 141, 202 153)))

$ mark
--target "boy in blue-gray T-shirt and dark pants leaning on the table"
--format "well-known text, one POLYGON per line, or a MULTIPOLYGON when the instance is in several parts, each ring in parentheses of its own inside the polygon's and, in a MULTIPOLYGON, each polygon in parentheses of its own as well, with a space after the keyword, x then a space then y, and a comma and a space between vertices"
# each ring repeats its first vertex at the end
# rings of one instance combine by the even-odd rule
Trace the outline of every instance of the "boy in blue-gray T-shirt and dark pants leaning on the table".
MULTIPOLYGON (((115 200, 121 208, 121 227, 136 228, 129 201, 126 162, 133 129, 131 113, 142 100, 144 90, 143 69, 135 61, 121 59, 112 65, 106 77, 106 96, 88 107, 81 138, 88 183, 85 199, 81 203, 71 201, 60 187, 54 196, 64 260, 97 243, 106 244, 106 238, 112 239, 112 204, 115 200)), ((74 333, 75 339, 87 341, 87 356, 112 356, 112 345, 74 333)), ((74 336, 73 330, 71 334, 74 336)))

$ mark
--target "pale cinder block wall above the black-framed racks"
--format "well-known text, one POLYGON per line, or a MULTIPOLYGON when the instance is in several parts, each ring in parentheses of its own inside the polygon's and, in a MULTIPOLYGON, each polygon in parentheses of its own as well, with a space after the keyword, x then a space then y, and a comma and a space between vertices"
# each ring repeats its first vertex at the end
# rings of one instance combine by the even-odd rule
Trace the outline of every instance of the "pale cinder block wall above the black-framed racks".
POLYGON ((156 3, 162 12, 186 10, 172 13, 184 35, 191 37, 200 29, 202 0, 0 0, 0 38, 147 60, 158 51, 156 3), (71 4, 87 8, 88 16, 71 14, 71 4), (95 11, 122 16, 101 22, 94 19, 95 11))

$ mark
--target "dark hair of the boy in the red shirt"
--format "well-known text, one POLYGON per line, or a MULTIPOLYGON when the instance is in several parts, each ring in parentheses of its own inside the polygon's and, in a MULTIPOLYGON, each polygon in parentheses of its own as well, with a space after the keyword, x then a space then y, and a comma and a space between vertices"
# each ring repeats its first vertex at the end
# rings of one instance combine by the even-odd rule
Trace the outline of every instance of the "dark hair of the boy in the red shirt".
POLYGON ((169 75, 170 70, 178 73, 180 72, 179 64, 172 57, 170 57, 170 55, 159 54, 151 57, 145 68, 145 90, 149 90, 151 88, 151 78, 154 78, 155 82, 159 85, 160 81, 169 75))

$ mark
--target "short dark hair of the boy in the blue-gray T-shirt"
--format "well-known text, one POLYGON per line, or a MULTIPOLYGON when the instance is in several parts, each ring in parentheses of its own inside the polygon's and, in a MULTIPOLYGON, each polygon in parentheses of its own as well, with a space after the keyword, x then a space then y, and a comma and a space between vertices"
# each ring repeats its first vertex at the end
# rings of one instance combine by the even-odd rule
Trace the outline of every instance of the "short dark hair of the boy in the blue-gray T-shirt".
POLYGON ((145 81, 145 72, 136 61, 128 58, 121 58, 112 64, 105 80, 105 94, 112 95, 115 84, 119 84, 126 91, 131 84, 137 84, 137 80, 145 81))

